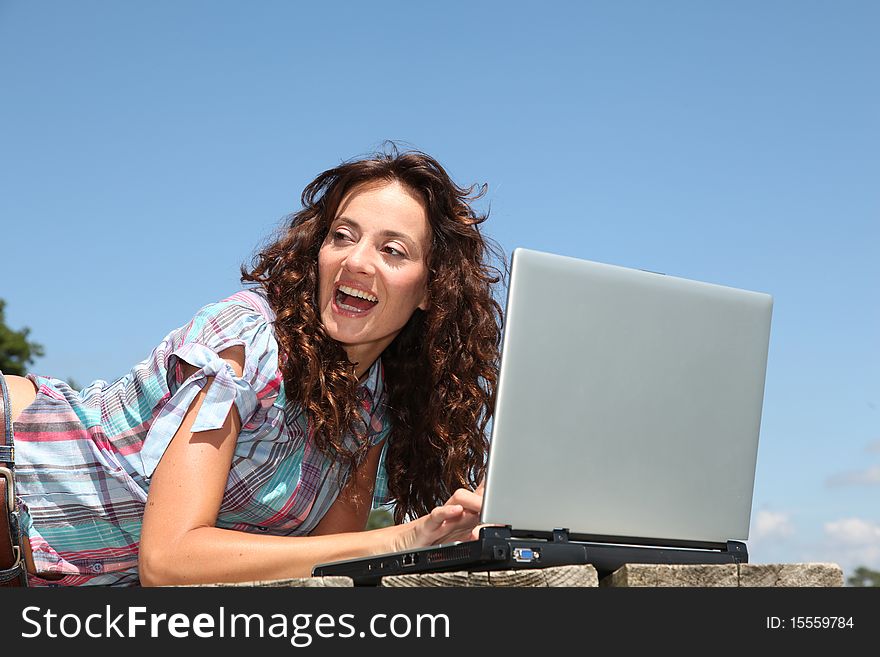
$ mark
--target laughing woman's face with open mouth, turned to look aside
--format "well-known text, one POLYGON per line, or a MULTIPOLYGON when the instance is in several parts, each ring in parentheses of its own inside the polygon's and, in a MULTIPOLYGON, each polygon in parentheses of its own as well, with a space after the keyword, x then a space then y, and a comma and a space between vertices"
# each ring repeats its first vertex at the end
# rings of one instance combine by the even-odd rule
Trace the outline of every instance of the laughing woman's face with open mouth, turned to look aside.
POLYGON ((427 309, 430 234, 424 203, 396 181, 360 185, 340 202, 318 254, 318 303, 358 376, 427 309))

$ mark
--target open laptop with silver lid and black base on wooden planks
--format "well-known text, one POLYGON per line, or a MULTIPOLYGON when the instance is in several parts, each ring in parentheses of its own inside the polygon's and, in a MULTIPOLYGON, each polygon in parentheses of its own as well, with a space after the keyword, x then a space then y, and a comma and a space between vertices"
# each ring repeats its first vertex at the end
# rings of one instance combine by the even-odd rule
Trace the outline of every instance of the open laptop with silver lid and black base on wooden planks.
POLYGON ((747 563, 773 299, 517 248, 478 539, 319 564, 747 563))

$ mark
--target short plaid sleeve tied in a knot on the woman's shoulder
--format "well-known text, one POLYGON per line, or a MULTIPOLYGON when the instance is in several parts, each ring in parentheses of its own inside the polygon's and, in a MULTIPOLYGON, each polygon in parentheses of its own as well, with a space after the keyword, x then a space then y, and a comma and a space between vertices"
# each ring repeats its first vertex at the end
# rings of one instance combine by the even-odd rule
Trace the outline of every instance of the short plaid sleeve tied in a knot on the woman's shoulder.
POLYGON ((187 325, 166 338, 165 380, 169 398, 153 419, 141 450, 143 472, 151 477, 199 391, 213 383, 192 427, 194 433, 219 429, 235 404, 244 426, 268 393, 278 389, 278 347, 270 320, 241 299, 230 298, 202 308, 187 325), (242 376, 220 353, 241 346, 242 376), (182 379, 181 363, 197 368, 182 379))

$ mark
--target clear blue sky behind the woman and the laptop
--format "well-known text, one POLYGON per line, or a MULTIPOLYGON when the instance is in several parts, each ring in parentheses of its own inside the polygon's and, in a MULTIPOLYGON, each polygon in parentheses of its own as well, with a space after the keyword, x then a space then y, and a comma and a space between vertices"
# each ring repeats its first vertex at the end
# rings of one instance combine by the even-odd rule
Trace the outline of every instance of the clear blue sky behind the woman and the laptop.
POLYGON ((768 292, 756 563, 880 569, 880 5, 0 1, 0 298, 85 384, 383 140, 486 232, 768 292))

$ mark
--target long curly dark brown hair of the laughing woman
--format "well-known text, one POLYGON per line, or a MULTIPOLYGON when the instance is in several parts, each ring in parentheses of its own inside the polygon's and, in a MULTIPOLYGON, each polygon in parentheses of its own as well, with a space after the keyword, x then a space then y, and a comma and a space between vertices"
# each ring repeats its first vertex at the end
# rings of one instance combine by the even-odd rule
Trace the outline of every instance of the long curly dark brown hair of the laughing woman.
POLYGON ((367 431, 357 378, 342 346, 330 338, 317 302, 318 252, 340 202, 369 182, 399 182, 424 202, 431 227, 426 311, 416 309, 382 353, 387 393, 386 472, 395 521, 428 513, 455 489, 483 476, 498 379, 502 310, 493 286, 507 272, 497 244, 482 234, 487 214, 471 203, 486 185, 456 185, 421 151, 390 148, 321 173, 302 193, 302 209, 282 234, 241 268, 276 313, 284 388, 308 413, 321 451, 350 472, 369 441, 345 447, 346 434, 367 431))

